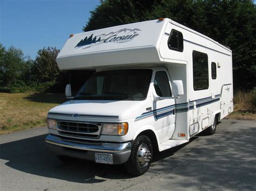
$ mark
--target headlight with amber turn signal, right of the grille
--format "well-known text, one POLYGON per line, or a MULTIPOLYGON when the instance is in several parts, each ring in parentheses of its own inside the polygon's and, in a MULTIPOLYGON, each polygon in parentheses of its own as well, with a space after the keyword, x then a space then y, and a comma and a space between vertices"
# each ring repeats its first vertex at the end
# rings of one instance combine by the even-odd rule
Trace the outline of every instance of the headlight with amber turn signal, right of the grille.
POLYGON ((102 135, 126 135, 128 132, 128 123, 104 123, 102 126, 102 135))

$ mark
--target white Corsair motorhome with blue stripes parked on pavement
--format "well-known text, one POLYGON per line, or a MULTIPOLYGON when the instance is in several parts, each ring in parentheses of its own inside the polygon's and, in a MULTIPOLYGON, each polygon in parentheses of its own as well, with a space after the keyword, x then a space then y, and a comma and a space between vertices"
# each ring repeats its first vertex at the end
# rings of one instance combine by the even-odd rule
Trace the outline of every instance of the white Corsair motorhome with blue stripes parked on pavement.
POLYGON ((71 35, 60 69, 95 69, 48 113, 46 145, 60 160, 125 164, 144 174, 158 151, 184 144, 233 111, 232 51, 160 18, 71 35))

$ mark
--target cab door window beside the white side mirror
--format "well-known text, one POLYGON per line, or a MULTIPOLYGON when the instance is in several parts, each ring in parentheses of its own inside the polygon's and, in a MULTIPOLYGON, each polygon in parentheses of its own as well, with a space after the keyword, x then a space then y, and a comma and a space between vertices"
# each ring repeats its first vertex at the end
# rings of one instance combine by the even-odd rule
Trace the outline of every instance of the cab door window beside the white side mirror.
POLYGON ((159 71, 154 77, 154 89, 160 97, 170 97, 172 96, 169 80, 166 72, 159 71))

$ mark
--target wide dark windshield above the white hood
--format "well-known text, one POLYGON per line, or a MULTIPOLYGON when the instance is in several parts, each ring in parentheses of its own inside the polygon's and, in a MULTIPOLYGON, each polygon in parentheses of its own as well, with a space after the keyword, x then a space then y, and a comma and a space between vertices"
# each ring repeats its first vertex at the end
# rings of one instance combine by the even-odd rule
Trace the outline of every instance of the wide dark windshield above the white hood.
POLYGON ((97 72, 85 82, 74 100, 145 100, 151 76, 151 69, 97 72))

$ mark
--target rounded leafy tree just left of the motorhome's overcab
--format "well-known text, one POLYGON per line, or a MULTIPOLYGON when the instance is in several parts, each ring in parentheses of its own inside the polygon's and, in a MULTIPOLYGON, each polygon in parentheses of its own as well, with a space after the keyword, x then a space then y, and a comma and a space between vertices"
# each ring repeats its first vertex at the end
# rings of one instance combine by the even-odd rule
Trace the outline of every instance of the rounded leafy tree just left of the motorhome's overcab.
POLYGON ((39 49, 32 68, 33 80, 37 82, 56 81, 60 75, 56 63, 58 53, 59 49, 56 47, 39 49))

